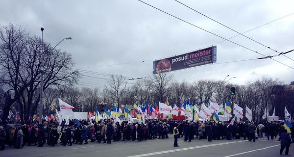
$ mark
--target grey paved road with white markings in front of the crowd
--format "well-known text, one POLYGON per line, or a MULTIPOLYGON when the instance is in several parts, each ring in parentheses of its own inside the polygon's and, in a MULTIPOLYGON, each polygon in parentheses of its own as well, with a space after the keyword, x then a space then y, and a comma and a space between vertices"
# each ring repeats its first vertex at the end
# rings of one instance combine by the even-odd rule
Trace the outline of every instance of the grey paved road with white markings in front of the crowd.
MULTIPOLYGON (((196 139, 184 142, 183 138, 179 138, 178 144, 180 147, 173 147, 173 138, 169 138, 111 144, 89 142, 87 145, 65 147, 25 146, 23 149, 6 148, 0 151, 0 157, 280 157, 277 139, 259 138, 256 142, 238 139, 208 142, 196 139)), ((294 153, 293 147, 291 152, 294 153)))

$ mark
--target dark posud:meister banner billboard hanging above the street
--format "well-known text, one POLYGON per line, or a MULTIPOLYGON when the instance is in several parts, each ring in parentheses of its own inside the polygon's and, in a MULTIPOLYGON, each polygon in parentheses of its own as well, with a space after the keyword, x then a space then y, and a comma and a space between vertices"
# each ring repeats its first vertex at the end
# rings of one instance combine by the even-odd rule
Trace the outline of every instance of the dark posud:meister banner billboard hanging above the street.
POLYGON ((153 74, 217 62, 217 46, 153 61, 153 74))

